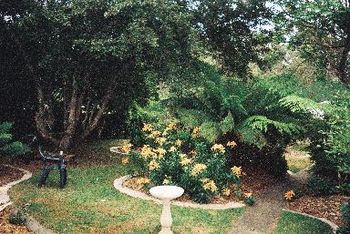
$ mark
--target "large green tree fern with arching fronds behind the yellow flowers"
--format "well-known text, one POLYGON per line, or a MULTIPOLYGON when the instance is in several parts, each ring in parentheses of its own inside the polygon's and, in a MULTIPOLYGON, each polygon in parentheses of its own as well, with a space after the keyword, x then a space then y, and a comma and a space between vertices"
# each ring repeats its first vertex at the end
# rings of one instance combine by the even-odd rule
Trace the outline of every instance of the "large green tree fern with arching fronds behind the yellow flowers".
POLYGON ((286 172, 286 145, 315 131, 328 108, 296 93, 300 87, 291 75, 261 77, 246 84, 209 65, 202 64, 200 71, 202 80, 170 98, 171 109, 185 126, 200 126, 209 141, 233 135, 241 144, 258 147, 253 154, 261 156, 256 160, 271 165, 275 175, 286 172))

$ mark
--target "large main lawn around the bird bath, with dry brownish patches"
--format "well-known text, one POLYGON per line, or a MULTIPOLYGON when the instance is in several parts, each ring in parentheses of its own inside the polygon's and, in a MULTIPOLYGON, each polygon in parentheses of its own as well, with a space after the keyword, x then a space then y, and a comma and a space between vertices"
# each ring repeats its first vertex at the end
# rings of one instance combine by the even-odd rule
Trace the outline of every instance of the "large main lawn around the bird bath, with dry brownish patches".
MULTIPOLYGON (((58 175, 38 188, 38 174, 15 186, 15 204, 58 233, 157 233, 161 206, 119 193, 112 183, 122 166, 70 168, 68 185, 58 175)), ((172 207, 175 233, 227 233, 243 209, 202 210, 172 207)))

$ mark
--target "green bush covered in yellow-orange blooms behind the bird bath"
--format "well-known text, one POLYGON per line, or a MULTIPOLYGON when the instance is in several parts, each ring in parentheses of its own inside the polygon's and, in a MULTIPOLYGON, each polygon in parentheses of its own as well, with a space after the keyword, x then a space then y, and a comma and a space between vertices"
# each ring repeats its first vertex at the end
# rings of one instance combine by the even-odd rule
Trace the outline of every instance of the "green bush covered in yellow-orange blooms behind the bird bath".
MULTIPOLYGON (((211 144, 200 136, 200 129, 185 129, 179 124, 144 124, 145 143, 130 151, 126 162, 136 165, 133 175, 150 180, 153 185, 181 186, 196 202, 206 203, 214 195, 229 196, 240 189, 242 170, 230 168, 227 160, 234 141, 211 144)), ((126 150, 128 151, 128 150, 126 150)), ((146 183, 147 184, 147 183, 146 183)))

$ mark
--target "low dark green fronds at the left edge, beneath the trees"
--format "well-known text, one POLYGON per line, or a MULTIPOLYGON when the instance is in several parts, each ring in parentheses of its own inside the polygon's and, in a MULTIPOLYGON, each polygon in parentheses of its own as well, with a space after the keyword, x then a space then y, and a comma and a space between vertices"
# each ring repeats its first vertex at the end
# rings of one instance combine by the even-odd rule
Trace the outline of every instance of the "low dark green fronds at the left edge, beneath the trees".
POLYGON ((29 148, 19 141, 13 141, 11 134, 13 124, 0 124, 0 153, 5 155, 20 155, 29 151, 29 148))

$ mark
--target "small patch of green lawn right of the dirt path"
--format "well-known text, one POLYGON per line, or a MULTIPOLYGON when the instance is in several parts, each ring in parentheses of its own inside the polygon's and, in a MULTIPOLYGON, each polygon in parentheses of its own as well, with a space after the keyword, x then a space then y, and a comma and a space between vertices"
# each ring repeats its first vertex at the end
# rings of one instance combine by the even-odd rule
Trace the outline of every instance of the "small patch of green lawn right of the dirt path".
POLYGON ((294 214, 291 212, 283 212, 277 228, 274 231, 274 234, 327 234, 332 233, 331 228, 328 224, 323 223, 317 219, 306 217, 300 214, 294 214))

